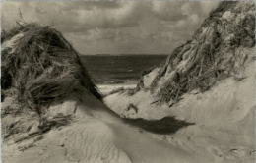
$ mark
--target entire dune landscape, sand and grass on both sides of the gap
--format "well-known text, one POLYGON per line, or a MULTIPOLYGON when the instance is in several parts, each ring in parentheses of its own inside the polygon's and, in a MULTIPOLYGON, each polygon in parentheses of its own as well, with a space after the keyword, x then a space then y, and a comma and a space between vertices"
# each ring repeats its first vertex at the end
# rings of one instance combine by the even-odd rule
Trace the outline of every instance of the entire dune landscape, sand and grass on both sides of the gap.
MULTIPOLYGON (((3 162, 254 162, 256 79, 255 39, 251 37, 254 32, 249 28, 246 33, 251 35, 239 35, 245 33, 246 26, 235 24, 239 34, 232 36, 233 27, 229 25, 254 20, 255 6, 252 2, 222 4, 208 19, 210 23, 206 20, 196 32, 193 41, 179 47, 181 50, 169 57, 162 69, 147 74, 136 91, 124 89, 104 99, 78 53, 60 32, 29 24, 4 35, 1 38, 1 80, 5 83, 1 107, 3 162), (229 7, 233 15, 225 11, 229 7), (218 19, 223 21, 221 27, 218 19), (235 21, 225 24, 228 19, 235 21), (228 31, 222 28, 226 25, 228 31), (226 39, 218 39, 220 33, 215 31, 219 29, 226 39), (226 62, 211 60, 212 65, 205 70, 221 63, 219 66, 224 66, 221 72, 228 72, 229 76, 214 69, 210 80, 207 76, 204 84, 187 89, 191 72, 202 77, 197 61, 200 58, 209 61, 209 44, 218 47, 222 52, 219 57, 226 57, 221 61, 226 62), (234 45, 235 50, 230 50, 234 45), (189 76, 179 77, 182 73, 189 76), (221 78, 220 74, 226 76, 221 78), (177 82, 179 78, 184 82, 177 82), (184 86, 184 91, 179 93, 174 83, 179 88, 184 86), (152 86, 156 89, 151 89, 152 86), (208 89, 201 91, 200 87, 208 89), (158 95, 163 103, 158 102, 158 95), (165 123, 157 124, 162 122, 165 123), (174 125, 178 127, 172 132, 152 132, 174 125)), ((213 49, 210 48, 211 54, 216 52, 213 49)), ((192 78, 193 83, 198 83, 196 80, 192 78)))

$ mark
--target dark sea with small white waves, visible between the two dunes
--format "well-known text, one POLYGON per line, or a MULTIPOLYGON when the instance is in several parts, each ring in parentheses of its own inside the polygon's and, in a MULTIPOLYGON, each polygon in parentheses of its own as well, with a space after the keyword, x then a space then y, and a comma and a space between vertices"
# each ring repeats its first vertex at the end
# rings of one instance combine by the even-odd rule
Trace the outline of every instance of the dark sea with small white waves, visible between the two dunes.
POLYGON ((93 81, 101 84, 136 83, 142 72, 160 66, 167 55, 81 55, 93 81))

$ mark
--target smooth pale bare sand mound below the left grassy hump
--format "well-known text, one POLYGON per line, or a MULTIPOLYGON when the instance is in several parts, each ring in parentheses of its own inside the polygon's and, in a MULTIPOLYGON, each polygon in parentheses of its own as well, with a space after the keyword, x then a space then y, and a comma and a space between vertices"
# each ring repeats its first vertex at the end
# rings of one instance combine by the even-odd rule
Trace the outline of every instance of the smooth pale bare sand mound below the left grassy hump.
MULTIPOLYGON (((137 128, 106 111, 95 97, 54 106, 61 113, 73 110, 74 123, 52 130, 37 142, 31 139, 4 150, 5 162, 200 162, 192 153, 139 133, 137 128), (61 109, 60 109, 61 108, 61 109), (27 150, 17 148, 30 146, 27 150), (16 149, 16 150, 15 150, 16 149), (16 152, 14 152, 16 151, 16 152), (196 161, 192 161, 196 160, 196 161)), ((51 116, 59 113, 50 108, 51 116)), ((204 162, 204 161, 201 161, 204 162)))

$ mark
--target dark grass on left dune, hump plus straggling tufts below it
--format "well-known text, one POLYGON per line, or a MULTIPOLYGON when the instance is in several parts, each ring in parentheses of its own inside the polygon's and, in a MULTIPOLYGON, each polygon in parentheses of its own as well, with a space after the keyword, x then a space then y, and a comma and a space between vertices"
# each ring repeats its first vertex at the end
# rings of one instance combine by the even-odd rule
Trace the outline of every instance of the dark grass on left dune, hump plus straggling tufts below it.
POLYGON ((51 115, 48 106, 88 92, 101 100, 78 53, 60 32, 37 24, 2 31, 2 138, 15 142, 71 123, 71 115, 51 115))

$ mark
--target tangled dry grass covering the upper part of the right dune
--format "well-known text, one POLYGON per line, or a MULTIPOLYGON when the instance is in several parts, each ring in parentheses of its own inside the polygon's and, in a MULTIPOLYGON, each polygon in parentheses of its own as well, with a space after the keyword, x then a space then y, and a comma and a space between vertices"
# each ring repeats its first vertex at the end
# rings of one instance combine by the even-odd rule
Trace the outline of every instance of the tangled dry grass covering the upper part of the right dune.
POLYGON ((239 76, 248 58, 239 49, 255 45, 255 4, 248 3, 221 2, 192 39, 173 50, 151 85, 160 103, 177 102, 189 91, 203 92, 217 81, 239 76), (227 18, 224 12, 230 12, 227 18), (163 76, 167 80, 158 85, 163 76))

